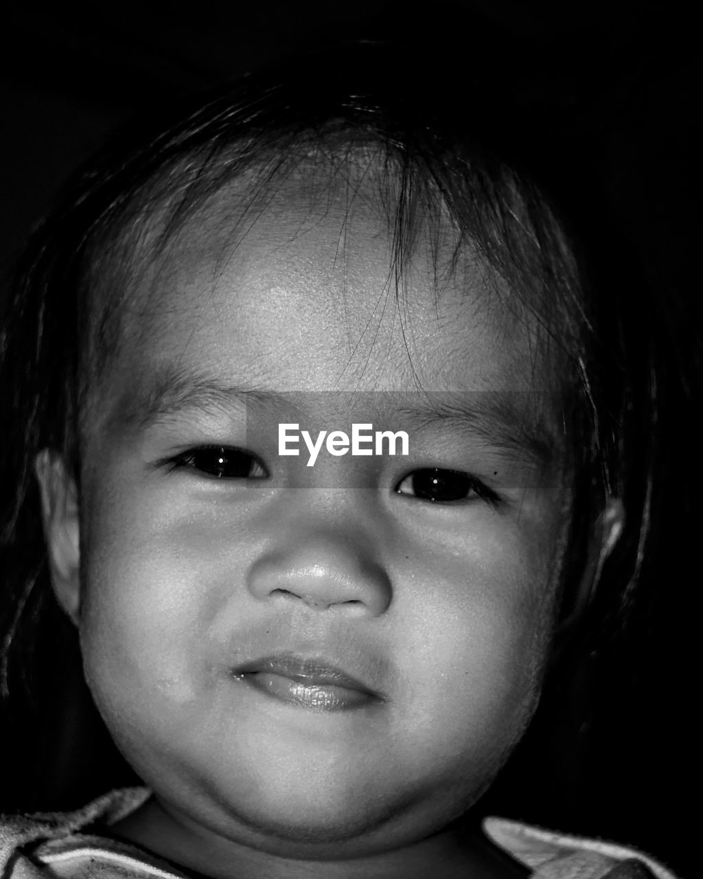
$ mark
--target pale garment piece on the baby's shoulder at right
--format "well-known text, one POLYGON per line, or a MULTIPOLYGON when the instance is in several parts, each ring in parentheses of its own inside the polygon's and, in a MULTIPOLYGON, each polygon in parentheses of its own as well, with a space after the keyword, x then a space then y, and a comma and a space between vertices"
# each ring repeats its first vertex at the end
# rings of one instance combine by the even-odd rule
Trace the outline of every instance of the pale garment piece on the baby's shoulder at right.
POLYGON ((483 832, 534 879, 677 879, 669 868, 629 846, 488 817, 483 832))

